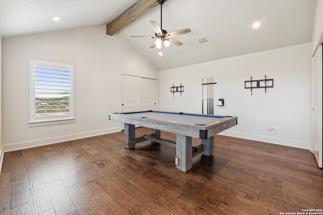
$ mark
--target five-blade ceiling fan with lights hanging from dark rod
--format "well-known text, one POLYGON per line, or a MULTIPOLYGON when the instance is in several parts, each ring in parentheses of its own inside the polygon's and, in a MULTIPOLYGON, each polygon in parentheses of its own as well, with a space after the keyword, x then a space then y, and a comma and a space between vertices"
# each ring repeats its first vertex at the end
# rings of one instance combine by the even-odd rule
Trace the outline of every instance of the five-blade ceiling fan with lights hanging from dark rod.
POLYGON ((162 29, 162 18, 163 18, 163 11, 162 6, 165 3, 165 0, 157 0, 158 4, 160 5, 160 27, 155 21, 150 21, 150 24, 155 31, 155 36, 131 36, 131 37, 139 37, 139 38, 152 38, 156 39, 154 43, 151 44, 150 48, 161 48, 161 44, 164 43, 166 47, 168 47, 170 44, 174 44, 177 46, 183 45, 182 42, 172 39, 171 37, 180 36, 183 34, 190 33, 191 30, 189 28, 177 30, 168 33, 166 30, 162 29))

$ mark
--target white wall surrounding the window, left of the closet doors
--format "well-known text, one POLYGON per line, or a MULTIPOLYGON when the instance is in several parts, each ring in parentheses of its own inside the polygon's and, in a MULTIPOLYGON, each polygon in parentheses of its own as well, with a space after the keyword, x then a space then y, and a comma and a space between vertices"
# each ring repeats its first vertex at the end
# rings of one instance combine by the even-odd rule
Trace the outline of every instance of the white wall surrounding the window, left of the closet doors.
POLYGON ((3 151, 119 131, 121 74, 157 79, 158 71, 105 26, 2 39, 3 151), (75 66, 75 123, 29 127, 29 59, 75 66))

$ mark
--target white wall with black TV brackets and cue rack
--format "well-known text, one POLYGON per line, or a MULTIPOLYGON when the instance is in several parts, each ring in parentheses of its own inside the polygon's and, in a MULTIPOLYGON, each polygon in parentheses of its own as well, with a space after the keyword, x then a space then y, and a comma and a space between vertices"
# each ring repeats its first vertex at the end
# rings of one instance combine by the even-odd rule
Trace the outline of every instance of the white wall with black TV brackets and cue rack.
POLYGON ((159 109, 201 113, 201 79, 214 77, 214 99, 225 99, 214 114, 239 117, 238 125, 221 134, 310 149, 310 56, 306 43, 159 71, 159 109), (251 96, 244 82, 264 75, 274 79, 274 88, 253 89, 251 96), (173 84, 184 85, 182 96, 173 98, 173 84), (267 126, 275 127, 275 134, 267 126))

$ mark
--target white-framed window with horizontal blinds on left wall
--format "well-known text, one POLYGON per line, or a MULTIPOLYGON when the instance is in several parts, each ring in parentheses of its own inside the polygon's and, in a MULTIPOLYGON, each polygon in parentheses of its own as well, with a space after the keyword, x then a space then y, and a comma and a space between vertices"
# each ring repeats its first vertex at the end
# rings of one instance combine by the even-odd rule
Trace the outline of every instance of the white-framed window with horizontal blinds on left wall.
POLYGON ((30 122, 74 119, 74 66, 30 59, 30 122))

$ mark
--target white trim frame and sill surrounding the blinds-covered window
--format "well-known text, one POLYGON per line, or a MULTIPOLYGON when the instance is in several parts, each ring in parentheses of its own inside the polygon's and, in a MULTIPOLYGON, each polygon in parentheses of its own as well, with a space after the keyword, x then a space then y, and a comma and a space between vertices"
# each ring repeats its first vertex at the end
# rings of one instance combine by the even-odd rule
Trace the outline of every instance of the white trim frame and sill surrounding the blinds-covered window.
POLYGON ((30 87, 29 87, 29 127, 41 126, 41 125, 50 125, 50 124, 64 124, 71 123, 75 121, 74 118, 74 65, 49 62, 43 60, 30 59, 30 87), (70 91, 70 114, 68 115, 57 115, 57 116, 35 116, 34 113, 34 74, 35 67, 37 65, 55 67, 55 68, 69 68, 71 74, 71 91, 70 91))

